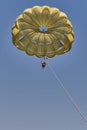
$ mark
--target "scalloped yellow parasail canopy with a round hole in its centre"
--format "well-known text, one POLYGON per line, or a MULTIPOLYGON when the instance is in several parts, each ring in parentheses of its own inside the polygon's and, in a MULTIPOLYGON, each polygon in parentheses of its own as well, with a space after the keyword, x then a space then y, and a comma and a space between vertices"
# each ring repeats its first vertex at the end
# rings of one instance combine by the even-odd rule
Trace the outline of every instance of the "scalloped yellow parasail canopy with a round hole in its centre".
POLYGON ((57 8, 34 6, 24 10, 12 27, 13 44, 28 55, 54 57, 72 47, 72 23, 57 8))

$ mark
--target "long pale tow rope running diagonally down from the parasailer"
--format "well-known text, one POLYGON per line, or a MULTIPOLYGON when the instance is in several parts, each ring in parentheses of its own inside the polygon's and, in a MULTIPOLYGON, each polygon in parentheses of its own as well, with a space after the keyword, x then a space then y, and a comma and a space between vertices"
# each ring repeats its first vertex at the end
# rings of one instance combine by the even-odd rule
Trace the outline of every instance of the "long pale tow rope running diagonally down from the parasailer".
POLYGON ((49 69, 51 70, 53 76, 55 77, 55 79, 57 80, 57 84, 64 90, 66 96, 68 97, 68 99, 70 100, 70 102, 73 104, 74 108, 76 109, 76 111, 80 114, 80 116, 83 118, 83 120, 87 123, 87 117, 82 113, 82 111, 79 109, 79 106, 77 105, 77 103, 74 101, 73 97, 71 96, 71 94, 69 93, 69 91, 65 88, 64 84, 62 83, 62 81, 60 80, 60 78, 57 76, 56 72, 54 71, 54 69, 52 68, 52 66, 49 64, 49 69))

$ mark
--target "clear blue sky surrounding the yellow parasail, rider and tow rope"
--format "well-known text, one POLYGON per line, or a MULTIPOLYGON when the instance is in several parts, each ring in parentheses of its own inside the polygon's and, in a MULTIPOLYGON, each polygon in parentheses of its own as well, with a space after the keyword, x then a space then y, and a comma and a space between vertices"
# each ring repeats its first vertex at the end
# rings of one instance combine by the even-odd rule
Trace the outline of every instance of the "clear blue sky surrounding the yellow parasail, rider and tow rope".
POLYGON ((41 70, 39 58, 30 57, 12 44, 11 28, 26 8, 57 7, 72 21, 72 50, 49 59, 56 74, 80 110, 87 115, 87 1, 0 1, 0 129, 87 130, 49 67, 41 70))

